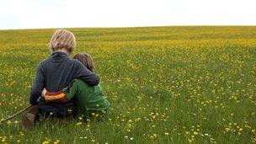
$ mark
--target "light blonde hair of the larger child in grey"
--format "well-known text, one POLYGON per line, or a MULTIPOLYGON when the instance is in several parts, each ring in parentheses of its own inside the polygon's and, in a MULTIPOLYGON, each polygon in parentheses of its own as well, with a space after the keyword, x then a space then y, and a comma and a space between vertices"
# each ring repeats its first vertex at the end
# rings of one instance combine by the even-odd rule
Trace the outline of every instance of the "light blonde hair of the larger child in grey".
POLYGON ((69 53, 72 53, 76 45, 75 36, 66 29, 57 29, 49 43, 51 51, 66 49, 69 53))

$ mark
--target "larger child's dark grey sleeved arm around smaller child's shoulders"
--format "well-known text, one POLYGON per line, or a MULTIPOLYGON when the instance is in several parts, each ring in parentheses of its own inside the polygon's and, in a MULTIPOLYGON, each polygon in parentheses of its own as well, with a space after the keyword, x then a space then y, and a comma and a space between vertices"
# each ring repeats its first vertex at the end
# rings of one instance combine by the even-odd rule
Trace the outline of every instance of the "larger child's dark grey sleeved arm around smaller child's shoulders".
POLYGON ((88 83, 90 86, 96 86, 99 84, 99 77, 88 70, 87 67, 83 66, 80 61, 76 61, 77 69, 75 72, 75 78, 83 80, 83 82, 88 83))

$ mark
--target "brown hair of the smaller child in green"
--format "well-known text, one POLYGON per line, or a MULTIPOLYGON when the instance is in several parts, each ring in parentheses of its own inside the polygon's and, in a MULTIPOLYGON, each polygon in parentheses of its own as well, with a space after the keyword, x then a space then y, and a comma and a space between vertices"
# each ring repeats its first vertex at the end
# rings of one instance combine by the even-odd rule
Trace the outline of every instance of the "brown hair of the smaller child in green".
POLYGON ((77 59, 78 61, 81 61, 83 65, 88 68, 88 70, 93 72, 94 62, 92 56, 90 56, 89 54, 78 53, 73 58, 77 59))

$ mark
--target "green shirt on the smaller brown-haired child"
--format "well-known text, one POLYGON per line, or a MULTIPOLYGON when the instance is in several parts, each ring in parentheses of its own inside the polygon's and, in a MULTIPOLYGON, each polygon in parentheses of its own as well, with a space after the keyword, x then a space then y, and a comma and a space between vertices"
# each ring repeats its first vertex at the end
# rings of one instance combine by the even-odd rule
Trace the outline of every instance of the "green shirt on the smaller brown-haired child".
POLYGON ((97 86, 89 86, 80 79, 75 79, 72 87, 66 93, 67 99, 74 98, 77 109, 81 112, 88 110, 106 110, 109 109, 109 101, 105 99, 103 89, 97 86))

